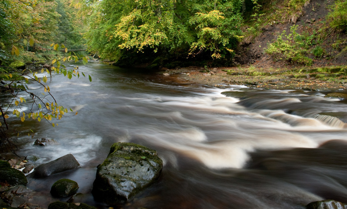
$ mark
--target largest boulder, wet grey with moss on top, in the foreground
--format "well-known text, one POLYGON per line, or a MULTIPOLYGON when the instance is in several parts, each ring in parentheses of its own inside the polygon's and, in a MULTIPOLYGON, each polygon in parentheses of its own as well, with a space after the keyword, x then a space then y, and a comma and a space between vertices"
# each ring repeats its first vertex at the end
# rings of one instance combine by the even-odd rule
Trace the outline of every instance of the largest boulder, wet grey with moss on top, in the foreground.
POLYGON ((94 198, 108 204, 125 202, 153 183, 162 167, 155 150, 134 143, 114 143, 96 171, 94 198))

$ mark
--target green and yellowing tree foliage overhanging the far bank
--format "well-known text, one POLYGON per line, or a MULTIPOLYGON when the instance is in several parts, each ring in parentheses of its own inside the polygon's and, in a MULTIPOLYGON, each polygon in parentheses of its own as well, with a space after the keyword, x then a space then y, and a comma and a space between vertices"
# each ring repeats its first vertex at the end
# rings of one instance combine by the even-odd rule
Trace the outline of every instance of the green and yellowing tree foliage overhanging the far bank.
POLYGON ((111 60, 129 52, 153 55, 158 51, 185 57, 232 56, 243 22, 242 0, 103 0, 87 5, 91 10, 88 45, 111 60))

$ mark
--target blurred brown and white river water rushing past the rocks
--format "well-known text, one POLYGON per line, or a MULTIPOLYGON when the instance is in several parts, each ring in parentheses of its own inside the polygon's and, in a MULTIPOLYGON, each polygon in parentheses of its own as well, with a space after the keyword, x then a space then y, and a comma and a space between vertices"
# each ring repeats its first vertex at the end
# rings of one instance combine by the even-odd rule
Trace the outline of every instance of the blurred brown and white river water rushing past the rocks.
POLYGON ((44 121, 18 123, 35 131, 34 138, 20 138, 19 155, 35 155, 41 164, 71 153, 81 164, 29 178, 31 201, 41 207, 67 201, 52 198, 49 190, 54 181, 70 178, 82 193, 75 202, 108 208, 90 192, 96 166, 115 142, 155 149, 164 162, 159 180, 119 206, 124 209, 294 209, 323 199, 347 202, 347 105, 324 97, 329 92, 213 88, 98 62, 79 70, 93 81, 54 75, 49 84, 58 103, 77 116, 55 128, 44 121), (58 144, 33 146, 44 137, 58 144))

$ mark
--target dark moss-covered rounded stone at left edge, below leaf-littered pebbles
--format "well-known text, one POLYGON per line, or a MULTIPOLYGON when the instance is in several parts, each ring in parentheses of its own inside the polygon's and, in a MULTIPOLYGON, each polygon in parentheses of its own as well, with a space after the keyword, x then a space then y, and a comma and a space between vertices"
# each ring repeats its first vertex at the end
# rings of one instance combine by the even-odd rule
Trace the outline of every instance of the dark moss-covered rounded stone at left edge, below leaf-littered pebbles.
POLYGON ((26 185, 28 183, 24 173, 15 168, 0 169, 0 182, 5 183, 5 181, 12 186, 26 185))

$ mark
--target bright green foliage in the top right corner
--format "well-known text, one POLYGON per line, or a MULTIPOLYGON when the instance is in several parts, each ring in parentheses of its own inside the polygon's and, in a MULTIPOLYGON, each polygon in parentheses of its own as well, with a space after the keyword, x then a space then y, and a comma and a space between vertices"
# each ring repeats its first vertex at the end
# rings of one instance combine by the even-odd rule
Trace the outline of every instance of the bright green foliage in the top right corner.
POLYGON ((337 0, 327 15, 330 27, 338 32, 347 32, 347 1, 337 0))

